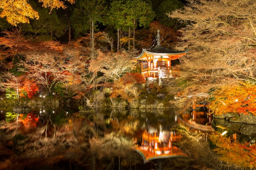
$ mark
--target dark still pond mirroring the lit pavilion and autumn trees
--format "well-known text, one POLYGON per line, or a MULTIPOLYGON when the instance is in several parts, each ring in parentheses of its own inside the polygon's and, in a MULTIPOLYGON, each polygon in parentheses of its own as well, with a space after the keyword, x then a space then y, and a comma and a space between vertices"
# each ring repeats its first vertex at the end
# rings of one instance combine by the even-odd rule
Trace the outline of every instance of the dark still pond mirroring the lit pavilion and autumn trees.
MULTIPOLYGON (((27 113, 12 110, 0 107, 1 170, 171 170, 216 165, 228 169, 237 166, 232 160, 222 161, 225 155, 216 154, 221 149, 209 151, 209 139, 215 150, 214 141, 225 150, 236 141, 254 146, 255 140, 255 134, 242 134, 230 124, 216 126, 207 109, 182 115, 175 109, 102 107, 79 113, 77 108, 42 106, 27 113)), ((248 165, 253 164, 240 166, 248 165)))

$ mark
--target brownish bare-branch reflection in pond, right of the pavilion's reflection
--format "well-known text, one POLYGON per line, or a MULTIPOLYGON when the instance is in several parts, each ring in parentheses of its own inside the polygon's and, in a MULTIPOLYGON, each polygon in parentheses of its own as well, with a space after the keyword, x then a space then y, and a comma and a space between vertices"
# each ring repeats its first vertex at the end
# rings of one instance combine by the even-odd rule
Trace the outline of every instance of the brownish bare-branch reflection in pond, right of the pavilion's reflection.
MULTIPOLYGON (((175 144, 186 154, 186 159, 166 159, 162 164, 163 169, 168 170, 242 170, 243 168, 221 161, 219 156, 212 150, 213 143, 209 143, 209 134, 201 132, 189 132, 184 126, 178 125, 177 132, 181 133, 182 140, 175 144)), ((241 159, 243 160, 243 159, 241 159)))

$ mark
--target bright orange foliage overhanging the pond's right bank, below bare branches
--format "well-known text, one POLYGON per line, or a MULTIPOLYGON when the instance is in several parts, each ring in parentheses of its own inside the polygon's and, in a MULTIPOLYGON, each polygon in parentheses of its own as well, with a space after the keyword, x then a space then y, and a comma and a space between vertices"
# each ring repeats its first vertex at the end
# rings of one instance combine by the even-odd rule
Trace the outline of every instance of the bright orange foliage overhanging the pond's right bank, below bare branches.
POLYGON ((216 115, 223 113, 252 113, 256 115, 256 86, 245 82, 227 85, 214 92, 209 108, 216 115))

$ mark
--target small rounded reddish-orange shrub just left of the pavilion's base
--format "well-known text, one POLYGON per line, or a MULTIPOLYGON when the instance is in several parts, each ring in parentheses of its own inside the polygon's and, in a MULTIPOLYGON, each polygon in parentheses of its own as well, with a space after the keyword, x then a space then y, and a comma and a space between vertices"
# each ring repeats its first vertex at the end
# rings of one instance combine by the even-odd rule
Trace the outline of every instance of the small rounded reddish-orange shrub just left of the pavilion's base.
POLYGON ((146 80, 140 73, 126 73, 126 75, 124 75, 121 78, 121 81, 124 84, 133 84, 133 83, 144 84, 146 82, 146 80))

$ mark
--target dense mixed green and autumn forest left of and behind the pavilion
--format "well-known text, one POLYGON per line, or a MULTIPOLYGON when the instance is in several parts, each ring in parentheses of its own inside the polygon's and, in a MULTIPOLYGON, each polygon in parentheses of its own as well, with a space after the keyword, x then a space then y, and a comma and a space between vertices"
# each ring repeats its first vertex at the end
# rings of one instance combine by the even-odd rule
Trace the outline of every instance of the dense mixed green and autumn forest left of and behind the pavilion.
MULTIPOLYGON (((39 91, 79 98, 118 84, 126 73, 141 83, 134 57, 154 45, 157 29, 163 45, 175 46, 184 25, 166 13, 183 6, 178 0, 3 1, 0 89, 9 98, 39 91)), ((120 88, 135 81, 126 77, 120 88)))

